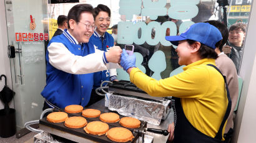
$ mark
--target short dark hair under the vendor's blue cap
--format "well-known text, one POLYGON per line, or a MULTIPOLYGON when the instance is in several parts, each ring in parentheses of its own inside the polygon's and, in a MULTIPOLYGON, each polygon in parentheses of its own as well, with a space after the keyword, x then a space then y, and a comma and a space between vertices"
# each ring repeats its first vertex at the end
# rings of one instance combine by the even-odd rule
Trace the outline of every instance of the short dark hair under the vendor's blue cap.
MULTIPOLYGON (((189 43, 189 45, 192 45, 192 44, 195 43, 195 40, 187 39, 187 42, 189 43)), ((217 44, 218 43, 220 44, 220 41, 217 42, 217 44)), ((214 59, 216 59, 218 57, 218 55, 215 52, 214 48, 210 48, 207 45, 204 45, 202 43, 201 43, 201 46, 200 46, 198 52, 199 52, 200 58, 202 58, 202 59, 203 58, 214 58, 214 59)))

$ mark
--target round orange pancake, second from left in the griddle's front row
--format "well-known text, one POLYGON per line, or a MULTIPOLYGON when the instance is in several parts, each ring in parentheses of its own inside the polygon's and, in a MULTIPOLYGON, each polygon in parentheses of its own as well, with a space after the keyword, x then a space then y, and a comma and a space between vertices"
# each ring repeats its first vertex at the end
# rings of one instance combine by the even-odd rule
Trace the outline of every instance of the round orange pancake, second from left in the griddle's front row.
POLYGON ((70 117, 70 118, 67 118, 65 121, 66 127, 70 127, 70 128, 74 128, 74 129, 84 127, 84 126, 86 126, 86 124, 87 124, 86 119, 84 119, 83 117, 80 117, 80 116, 70 117))

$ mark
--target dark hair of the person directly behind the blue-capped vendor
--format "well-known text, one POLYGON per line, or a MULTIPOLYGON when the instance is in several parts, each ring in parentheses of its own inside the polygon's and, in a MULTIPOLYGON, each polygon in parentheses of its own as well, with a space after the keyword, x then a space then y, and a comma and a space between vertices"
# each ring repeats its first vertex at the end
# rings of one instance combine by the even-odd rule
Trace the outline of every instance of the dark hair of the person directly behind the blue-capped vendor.
POLYGON ((222 42, 220 43, 220 46, 218 47, 220 49, 220 52, 222 52, 222 47, 227 42, 227 39, 229 39, 229 30, 227 29, 227 26, 225 26, 220 21, 205 21, 205 23, 209 23, 210 25, 214 25, 217 29, 220 30, 220 33, 222 35, 222 42))

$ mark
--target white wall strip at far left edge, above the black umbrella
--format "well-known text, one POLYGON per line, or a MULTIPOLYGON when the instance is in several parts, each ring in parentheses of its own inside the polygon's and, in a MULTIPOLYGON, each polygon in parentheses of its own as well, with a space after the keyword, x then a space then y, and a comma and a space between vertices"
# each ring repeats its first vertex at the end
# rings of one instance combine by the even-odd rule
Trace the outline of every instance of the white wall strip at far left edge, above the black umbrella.
MULTIPOLYGON (((6 12, 4 1, 0 1, 0 75, 7 76, 7 85, 12 89, 11 85, 11 68, 7 55, 7 28, 6 28, 6 12)), ((0 90, 4 87, 4 79, 0 81, 0 90)), ((13 100, 12 100, 13 101, 13 100)), ((14 108, 13 102, 10 103, 10 107, 14 108)), ((4 105, 0 101, 0 109, 4 108, 4 105)))

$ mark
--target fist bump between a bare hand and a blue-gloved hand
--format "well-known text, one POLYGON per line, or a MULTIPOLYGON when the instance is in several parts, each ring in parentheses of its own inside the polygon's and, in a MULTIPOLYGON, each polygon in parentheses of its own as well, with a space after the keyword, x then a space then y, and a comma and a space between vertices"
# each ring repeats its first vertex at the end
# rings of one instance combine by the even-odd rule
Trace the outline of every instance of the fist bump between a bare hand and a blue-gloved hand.
POLYGON ((106 52, 106 58, 108 62, 119 63, 124 68, 124 70, 128 70, 129 68, 136 67, 136 57, 135 55, 128 55, 126 50, 119 46, 114 46, 106 52))

